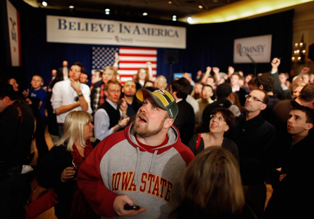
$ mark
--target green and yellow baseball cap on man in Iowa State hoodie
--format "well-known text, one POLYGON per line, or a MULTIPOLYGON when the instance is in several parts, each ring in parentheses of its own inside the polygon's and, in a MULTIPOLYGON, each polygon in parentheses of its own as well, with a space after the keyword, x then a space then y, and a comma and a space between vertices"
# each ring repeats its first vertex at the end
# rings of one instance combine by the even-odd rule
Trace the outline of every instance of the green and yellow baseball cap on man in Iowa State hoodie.
POLYGON ((141 102, 148 96, 151 96, 155 103, 163 110, 167 111, 171 119, 175 119, 178 115, 178 105, 176 99, 166 90, 157 90, 150 92, 145 88, 141 88, 136 92, 136 97, 141 102))

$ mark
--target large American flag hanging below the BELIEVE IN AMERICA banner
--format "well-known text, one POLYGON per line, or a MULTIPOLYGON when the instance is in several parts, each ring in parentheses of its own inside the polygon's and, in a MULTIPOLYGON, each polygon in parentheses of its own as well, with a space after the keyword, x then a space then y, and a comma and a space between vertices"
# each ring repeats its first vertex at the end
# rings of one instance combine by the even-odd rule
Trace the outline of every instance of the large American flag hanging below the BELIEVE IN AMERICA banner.
POLYGON ((157 49, 137 47, 92 47, 92 69, 102 70, 107 65, 114 64, 114 53, 120 55, 119 70, 122 84, 132 80, 138 69, 145 68, 146 62, 152 63, 153 81, 157 73, 157 49))

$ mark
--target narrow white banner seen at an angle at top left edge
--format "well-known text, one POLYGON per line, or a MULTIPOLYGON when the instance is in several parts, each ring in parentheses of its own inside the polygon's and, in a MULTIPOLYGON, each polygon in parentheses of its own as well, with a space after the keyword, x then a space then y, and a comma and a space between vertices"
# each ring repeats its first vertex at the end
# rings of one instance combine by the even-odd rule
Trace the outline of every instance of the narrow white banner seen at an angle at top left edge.
POLYGON ((21 42, 19 29, 19 12, 7 0, 8 27, 10 39, 11 65, 21 65, 21 42))

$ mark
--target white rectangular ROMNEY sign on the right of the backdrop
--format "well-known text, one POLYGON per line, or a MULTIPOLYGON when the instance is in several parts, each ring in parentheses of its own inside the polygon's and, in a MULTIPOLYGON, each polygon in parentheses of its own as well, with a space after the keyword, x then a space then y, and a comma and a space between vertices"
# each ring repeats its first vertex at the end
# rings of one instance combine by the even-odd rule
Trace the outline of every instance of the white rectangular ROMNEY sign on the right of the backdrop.
POLYGON ((268 63, 272 49, 272 35, 234 40, 234 63, 268 63))

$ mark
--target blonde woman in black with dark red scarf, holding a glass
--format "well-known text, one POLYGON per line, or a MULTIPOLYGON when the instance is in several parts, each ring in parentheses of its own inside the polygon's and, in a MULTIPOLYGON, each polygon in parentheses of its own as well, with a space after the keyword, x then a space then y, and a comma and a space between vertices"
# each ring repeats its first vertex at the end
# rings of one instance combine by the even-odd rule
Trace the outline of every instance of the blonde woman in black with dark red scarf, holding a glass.
POLYGON ((42 166, 40 184, 54 188, 58 195, 57 218, 90 218, 93 214, 74 177, 76 168, 93 149, 89 140, 93 136, 92 120, 88 112, 70 112, 65 118, 62 138, 48 152, 42 166))

